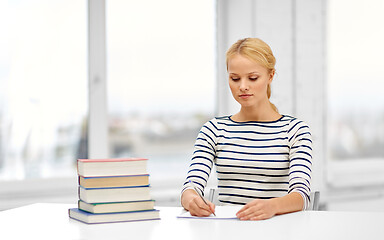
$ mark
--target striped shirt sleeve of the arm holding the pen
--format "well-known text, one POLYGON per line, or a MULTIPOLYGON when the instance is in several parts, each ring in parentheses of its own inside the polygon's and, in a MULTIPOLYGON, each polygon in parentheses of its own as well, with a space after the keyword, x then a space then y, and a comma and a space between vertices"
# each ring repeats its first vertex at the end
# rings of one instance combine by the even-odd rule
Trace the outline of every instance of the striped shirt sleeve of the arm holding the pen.
POLYGON ((192 188, 189 180, 204 194, 211 173, 213 162, 216 157, 216 132, 215 119, 207 122, 201 128, 194 146, 194 152, 189 166, 189 171, 183 185, 182 193, 192 188))

